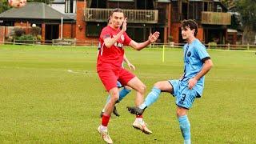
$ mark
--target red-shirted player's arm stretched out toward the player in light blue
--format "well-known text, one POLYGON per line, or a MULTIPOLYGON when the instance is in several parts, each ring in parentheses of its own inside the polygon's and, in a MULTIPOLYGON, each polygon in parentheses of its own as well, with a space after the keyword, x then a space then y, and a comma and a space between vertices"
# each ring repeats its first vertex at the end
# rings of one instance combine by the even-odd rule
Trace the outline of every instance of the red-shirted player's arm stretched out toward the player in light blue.
POLYGON ((146 42, 138 43, 138 42, 135 42, 132 40, 132 41, 130 41, 129 46, 133 47, 135 50, 142 50, 146 46, 149 46, 150 43, 155 42, 158 39, 159 34, 160 33, 158 31, 154 32, 154 34, 150 34, 149 39, 146 42))

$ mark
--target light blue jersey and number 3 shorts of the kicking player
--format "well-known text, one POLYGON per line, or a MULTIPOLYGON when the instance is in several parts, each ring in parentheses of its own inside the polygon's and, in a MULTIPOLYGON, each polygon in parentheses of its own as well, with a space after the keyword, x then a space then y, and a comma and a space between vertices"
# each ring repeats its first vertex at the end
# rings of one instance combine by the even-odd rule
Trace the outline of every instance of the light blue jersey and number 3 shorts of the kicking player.
POLYGON ((176 97, 176 105, 190 109, 194 102, 194 98, 202 96, 205 77, 198 80, 192 90, 188 87, 190 78, 194 78, 201 70, 204 61, 210 59, 206 52, 206 47, 195 39, 184 47, 184 76, 182 79, 169 80, 173 87, 173 95, 176 97))

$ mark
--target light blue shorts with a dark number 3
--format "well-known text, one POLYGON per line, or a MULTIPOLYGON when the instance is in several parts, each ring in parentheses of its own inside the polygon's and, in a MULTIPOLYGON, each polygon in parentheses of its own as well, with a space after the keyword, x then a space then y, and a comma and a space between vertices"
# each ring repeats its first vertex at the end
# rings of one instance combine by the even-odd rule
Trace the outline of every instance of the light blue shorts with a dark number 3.
POLYGON ((176 105, 186 109, 190 109, 194 98, 198 97, 196 90, 190 90, 187 84, 182 83, 180 80, 169 80, 170 85, 173 86, 173 96, 176 97, 176 105))

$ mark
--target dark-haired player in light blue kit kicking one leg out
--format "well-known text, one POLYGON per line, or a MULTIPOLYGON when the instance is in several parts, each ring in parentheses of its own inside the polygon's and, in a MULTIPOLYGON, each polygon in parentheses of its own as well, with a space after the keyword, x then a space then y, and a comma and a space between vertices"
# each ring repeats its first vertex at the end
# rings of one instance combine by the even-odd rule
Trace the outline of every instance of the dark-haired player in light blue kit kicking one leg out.
POLYGON ((128 106, 131 114, 142 114, 146 107, 157 101, 161 92, 168 92, 176 97, 177 117, 185 144, 190 144, 190 121, 187 111, 191 108, 194 98, 202 97, 204 75, 211 69, 213 62, 206 47, 195 36, 198 25, 193 20, 182 22, 182 38, 186 40, 184 49, 184 74, 177 80, 156 82, 142 105, 128 106))

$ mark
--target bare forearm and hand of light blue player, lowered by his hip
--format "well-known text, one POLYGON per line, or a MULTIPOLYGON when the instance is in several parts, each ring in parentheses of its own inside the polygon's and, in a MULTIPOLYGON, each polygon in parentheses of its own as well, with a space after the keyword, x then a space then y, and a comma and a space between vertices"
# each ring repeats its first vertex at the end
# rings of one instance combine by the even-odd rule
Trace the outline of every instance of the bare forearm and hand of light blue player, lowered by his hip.
POLYGON ((214 66, 214 64, 211 61, 211 59, 207 59, 202 66, 202 70, 200 70, 199 73, 194 78, 190 78, 189 89, 192 89, 195 86, 195 84, 198 82, 198 80, 202 78, 202 76, 206 75, 208 71, 210 71, 212 66, 214 66))

